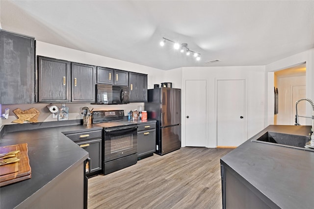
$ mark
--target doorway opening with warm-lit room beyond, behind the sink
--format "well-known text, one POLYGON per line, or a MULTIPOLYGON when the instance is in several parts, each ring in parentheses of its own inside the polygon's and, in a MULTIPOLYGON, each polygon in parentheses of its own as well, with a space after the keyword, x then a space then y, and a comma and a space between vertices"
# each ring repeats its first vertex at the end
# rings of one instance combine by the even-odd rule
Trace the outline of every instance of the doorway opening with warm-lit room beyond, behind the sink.
MULTIPOLYGON (((294 125, 295 102, 306 97, 305 63, 274 72, 274 96, 274 124, 294 125)), ((298 104, 298 115, 305 113, 306 103, 298 104)), ((300 123, 305 124, 305 118, 300 123)))

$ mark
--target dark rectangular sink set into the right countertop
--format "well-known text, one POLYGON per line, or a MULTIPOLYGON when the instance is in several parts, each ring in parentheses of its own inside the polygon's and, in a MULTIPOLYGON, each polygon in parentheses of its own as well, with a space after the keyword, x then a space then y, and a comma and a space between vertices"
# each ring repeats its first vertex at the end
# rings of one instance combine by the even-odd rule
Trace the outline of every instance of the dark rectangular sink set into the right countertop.
POLYGON ((305 147, 306 142, 310 140, 307 136, 283 134, 276 132, 265 132, 257 139, 252 139, 254 142, 267 143, 272 145, 302 149, 314 152, 314 149, 305 147))

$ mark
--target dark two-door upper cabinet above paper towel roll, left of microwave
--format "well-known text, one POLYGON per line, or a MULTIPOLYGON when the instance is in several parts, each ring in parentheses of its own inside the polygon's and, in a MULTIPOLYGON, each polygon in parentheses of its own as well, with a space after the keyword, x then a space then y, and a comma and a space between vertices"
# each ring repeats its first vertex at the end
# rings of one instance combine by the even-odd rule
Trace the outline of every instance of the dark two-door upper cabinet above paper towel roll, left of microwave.
POLYGON ((38 56, 39 102, 95 102, 96 67, 38 56))

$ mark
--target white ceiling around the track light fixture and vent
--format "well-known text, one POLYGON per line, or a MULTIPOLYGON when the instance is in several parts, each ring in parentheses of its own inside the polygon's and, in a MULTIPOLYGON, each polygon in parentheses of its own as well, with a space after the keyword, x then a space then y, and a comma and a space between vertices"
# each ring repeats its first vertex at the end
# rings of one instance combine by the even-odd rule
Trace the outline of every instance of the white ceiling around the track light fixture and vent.
POLYGON ((0 12, 4 30, 162 70, 267 65, 314 48, 313 0, 0 0, 0 12))

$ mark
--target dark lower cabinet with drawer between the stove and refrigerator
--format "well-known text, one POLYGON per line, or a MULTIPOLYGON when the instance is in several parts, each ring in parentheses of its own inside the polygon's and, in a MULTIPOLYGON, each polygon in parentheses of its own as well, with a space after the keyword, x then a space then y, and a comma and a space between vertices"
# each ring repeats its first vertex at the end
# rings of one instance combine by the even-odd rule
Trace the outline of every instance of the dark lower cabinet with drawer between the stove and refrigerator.
POLYGON ((156 122, 137 124, 137 159, 150 157, 156 148, 156 122))

